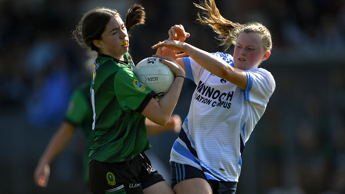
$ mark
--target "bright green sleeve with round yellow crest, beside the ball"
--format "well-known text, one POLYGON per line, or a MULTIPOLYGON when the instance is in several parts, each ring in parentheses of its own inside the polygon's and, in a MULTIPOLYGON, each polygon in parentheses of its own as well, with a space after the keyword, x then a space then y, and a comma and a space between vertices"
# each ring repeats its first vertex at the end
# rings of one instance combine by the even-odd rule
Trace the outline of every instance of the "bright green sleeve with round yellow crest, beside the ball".
POLYGON ((156 94, 146 85, 140 83, 134 71, 121 67, 114 78, 114 89, 122 110, 135 110, 141 113, 156 94))

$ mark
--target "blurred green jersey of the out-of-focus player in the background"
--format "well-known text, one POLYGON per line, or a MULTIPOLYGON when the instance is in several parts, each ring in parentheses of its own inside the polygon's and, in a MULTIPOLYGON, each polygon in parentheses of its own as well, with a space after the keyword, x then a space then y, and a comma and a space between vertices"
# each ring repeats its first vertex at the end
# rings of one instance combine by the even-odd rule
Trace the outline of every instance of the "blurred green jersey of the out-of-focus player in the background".
POLYGON ((89 153, 95 140, 92 131, 92 106, 90 100, 90 81, 83 83, 74 90, 67 110, 65 120, 76 126, 81 126, 85 137, 85 149, 83 154, 84 181, 89 182, 89 153))

